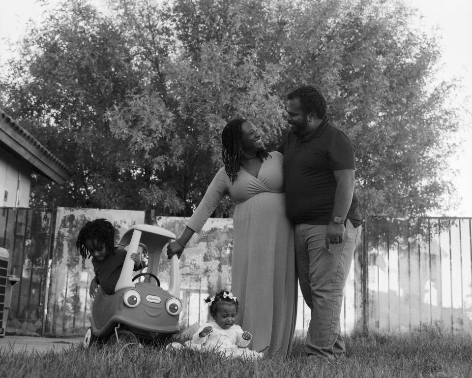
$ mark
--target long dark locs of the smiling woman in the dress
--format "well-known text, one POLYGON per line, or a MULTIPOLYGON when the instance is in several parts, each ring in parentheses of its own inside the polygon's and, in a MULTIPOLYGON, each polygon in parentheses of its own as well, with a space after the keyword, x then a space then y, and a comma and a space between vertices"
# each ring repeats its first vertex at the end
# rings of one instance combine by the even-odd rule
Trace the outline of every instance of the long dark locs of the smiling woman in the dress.
MULTIPOLYGON (((237 172, 241 168, 242 160, 242 124, 248 122, 244 118, 236 118, 226 124, 221 134, 221 143, 223 145, 223 163, 225 171, 233 184, 237 178, 237 172)), ((267 158, 268 153, 265 149, 257 152, 256 156, 261 162, 267 158)))

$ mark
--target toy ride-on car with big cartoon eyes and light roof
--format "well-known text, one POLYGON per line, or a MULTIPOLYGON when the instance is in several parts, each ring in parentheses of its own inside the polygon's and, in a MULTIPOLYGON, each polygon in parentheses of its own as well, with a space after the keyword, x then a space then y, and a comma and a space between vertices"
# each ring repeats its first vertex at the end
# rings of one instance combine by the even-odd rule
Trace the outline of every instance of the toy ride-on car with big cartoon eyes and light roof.
POLYGON ((169 289, 160 287, 157 278, 161 254, 175 239, 174 233, 148 224, 133 225, 125 232, 118 245, 124 247, 127 254, 115 293, 107 295, 100 289, 97 291, 84 347, 96 342, 109 345, 138 344, 139 340, 163 342, 179 332, 182 302, 178 299, 177 255, 170 261, 169 289), (139 247, 148 251, 148 272, 133 277, 131 254, 137 253, 139 247), (137 280, 142 276, 145 282, 137 280))

